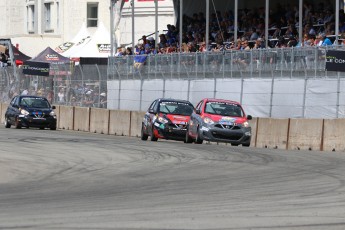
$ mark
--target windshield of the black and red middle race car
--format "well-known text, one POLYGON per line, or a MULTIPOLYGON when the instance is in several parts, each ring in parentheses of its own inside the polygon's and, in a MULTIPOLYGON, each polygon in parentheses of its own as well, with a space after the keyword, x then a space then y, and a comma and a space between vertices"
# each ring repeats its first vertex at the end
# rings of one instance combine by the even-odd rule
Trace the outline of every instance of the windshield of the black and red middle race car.
POLYGON ((190 116, 193 112, 193 106, 184 102, 165 101, 159 104, 159 112, 166 114, 176 114, 190 116))

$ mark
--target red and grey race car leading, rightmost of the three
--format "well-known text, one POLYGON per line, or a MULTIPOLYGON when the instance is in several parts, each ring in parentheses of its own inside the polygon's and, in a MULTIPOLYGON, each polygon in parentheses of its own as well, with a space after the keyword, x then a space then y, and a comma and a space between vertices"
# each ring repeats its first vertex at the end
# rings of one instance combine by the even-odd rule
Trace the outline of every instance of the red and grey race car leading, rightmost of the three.
POLYGON ((251 119, 236 101, 205 98, 191 115, 185 142, 202 144, 206 140, 250 146, 251 119))

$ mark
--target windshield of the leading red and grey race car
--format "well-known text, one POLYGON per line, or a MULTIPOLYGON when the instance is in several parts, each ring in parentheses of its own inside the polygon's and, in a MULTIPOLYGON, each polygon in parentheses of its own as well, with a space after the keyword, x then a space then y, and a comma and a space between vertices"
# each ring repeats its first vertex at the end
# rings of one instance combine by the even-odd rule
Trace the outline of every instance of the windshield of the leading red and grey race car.
POLYGON ((221 116, 243 117, 240 105, 224 102, 207 102, 205 112, 221 116))

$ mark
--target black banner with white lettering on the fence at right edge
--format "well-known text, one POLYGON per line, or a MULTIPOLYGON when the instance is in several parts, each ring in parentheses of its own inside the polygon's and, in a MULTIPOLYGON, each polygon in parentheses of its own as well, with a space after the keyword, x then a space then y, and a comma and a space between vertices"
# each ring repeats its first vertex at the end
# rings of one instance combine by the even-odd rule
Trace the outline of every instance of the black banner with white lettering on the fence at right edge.
POLYGON ((326 51, 326 70, 345 72, 345 51, 326 51))

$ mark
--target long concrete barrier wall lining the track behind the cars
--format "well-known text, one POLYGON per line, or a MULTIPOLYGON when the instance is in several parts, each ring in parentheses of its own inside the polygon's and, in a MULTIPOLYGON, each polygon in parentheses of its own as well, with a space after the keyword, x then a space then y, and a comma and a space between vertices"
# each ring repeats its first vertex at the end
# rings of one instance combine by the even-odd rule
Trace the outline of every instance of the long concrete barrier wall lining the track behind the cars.
MULTIPOLYGON (((0 105, 0 121, 4 123, 7 104, 0 105)), ((106 135, 140 137, 145 112, 56 106, 58 129, 106 135)), ((345 151, 345 118, 253 118, 252 147, 345 151)))

